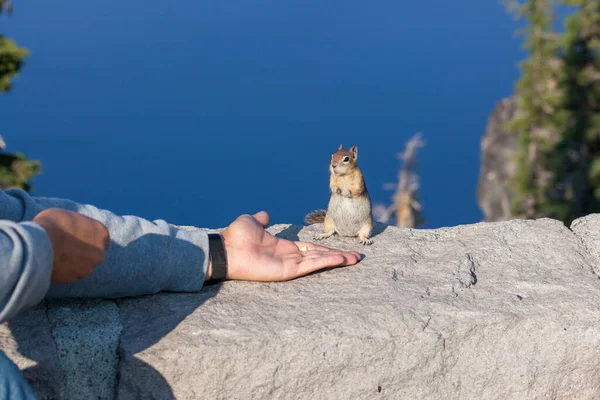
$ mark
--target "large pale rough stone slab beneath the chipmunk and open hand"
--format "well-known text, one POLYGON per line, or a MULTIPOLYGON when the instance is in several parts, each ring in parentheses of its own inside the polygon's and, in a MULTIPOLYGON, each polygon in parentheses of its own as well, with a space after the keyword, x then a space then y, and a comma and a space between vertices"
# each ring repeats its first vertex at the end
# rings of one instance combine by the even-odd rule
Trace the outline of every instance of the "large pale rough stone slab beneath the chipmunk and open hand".
MULTIPOLYGON (((355 266, 118 300, 115 397, 598 398, 594 228, 600 216, 574 223, 575 233, 550 219, 377 224, 371 246, 324 241, 363 252, 355 266)), ((270 228, 301 240, 321 229, 270 228)), ((113 315, 88 311, 98 314, 90 324, 113 315)))

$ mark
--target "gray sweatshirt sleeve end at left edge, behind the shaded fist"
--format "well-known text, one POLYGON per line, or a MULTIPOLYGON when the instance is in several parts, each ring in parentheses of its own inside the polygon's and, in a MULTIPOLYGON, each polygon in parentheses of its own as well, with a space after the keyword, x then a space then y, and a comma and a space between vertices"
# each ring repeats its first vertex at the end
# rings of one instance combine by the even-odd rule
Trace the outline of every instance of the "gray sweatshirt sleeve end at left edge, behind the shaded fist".
POLYGON ((52 259, 50 240, 39 225, 0 221, 0 323, 44 298, 52 259))

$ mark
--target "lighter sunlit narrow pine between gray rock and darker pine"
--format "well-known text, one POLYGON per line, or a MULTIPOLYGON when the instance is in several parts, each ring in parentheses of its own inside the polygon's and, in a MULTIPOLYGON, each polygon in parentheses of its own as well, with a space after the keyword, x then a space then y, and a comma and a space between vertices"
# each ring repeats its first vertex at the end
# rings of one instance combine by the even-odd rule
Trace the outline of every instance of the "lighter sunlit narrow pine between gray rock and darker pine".
POLYGON ((552 0, 507 3, 517 18, 525 18, 523 30, 529 58, 520 64, 522 75, 516 85, 517 116, 508 128, 519 137, 517 172, 510 184, 515 188, 513 213, 525 218, 547 216, 552 173, 552 152, 559 141, 553 115, 560 100, 558 35, 552 29, 552 0))

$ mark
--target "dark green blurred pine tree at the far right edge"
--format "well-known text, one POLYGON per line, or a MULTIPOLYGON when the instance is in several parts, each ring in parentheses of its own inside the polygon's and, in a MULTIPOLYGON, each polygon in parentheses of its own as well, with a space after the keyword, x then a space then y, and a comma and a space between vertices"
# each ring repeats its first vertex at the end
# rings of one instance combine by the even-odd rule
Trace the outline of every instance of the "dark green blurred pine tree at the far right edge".
POLYGON ((551 212, 569 224, 600 211, 600 0, 564 0, 575 7, 566 19, 561 131, 556 147, 551 212))

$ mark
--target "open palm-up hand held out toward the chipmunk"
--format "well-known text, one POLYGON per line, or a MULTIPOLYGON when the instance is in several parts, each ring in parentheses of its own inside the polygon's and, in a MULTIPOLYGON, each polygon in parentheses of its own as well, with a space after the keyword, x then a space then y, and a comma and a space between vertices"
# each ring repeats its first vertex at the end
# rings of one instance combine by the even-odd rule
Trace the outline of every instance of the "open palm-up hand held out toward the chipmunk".
MULTIPOLYGON (((238 217, 221 232, 227 254, 227 279, 287 281, 323 268, 360 261, 360 254, 355 251, 277 238, 264 229, 268 224, 269 215, 261 211, 254 216, 238 217)), ((211 272, 209 264, 207 280, 211 272)))

